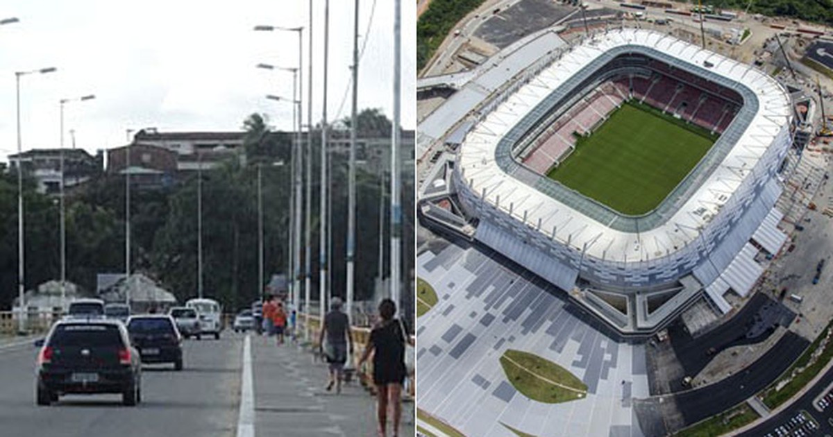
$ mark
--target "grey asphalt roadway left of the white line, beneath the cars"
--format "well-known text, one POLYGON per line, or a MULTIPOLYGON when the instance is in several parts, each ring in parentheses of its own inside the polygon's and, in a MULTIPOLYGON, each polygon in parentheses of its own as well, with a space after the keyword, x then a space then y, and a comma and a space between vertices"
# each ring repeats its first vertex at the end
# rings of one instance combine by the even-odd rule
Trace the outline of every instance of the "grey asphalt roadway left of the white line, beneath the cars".
POLYGON ((38 407, 34 400, 37 349, 0 353, 0 435, 234 435, 241 337, 185 340, 183 345, 184 370, 144 366, 142 403, 136 407, 123 406, 121 395, 67 395, 57 404, 38 407))

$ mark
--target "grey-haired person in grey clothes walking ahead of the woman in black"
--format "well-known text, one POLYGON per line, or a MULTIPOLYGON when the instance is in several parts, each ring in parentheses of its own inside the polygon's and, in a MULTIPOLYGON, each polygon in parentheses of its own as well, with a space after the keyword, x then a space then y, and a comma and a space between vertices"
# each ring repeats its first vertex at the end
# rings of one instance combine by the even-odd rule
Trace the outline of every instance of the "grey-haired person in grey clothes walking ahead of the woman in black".
POLYGON ((326 390, 332 390, 335 385, 336 393, 341 393, 344 364, 353 355, 353 338, 350 333, 350 317, 342 312, 342 300, 338 297, 330 301, 330 312, 324 316, 318 345, 324 359, 330 363, 330 380, 326 390), (324 340, 327 340, 326 343, 324 340))

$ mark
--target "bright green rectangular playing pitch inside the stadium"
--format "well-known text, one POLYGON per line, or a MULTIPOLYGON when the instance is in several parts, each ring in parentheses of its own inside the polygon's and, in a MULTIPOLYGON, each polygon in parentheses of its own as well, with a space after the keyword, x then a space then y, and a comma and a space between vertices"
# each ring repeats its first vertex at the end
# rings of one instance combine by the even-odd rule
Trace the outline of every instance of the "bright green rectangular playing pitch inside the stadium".
POLYGON ((547 176, 622 214, 658 206, 715 143, 717 135, 637 102, 611 113, 547 176))

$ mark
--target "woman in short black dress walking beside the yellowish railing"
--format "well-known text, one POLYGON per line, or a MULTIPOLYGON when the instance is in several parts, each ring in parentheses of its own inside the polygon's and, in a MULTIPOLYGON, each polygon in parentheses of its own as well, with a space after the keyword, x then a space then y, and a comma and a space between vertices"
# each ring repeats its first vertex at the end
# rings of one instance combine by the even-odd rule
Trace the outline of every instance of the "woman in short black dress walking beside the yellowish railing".
POLYGON ((359 366, 373 354, 373 383, 377 393, 377 419, 379 421, 379 435, 385 437, 387 425, 387 407, 392 407, 393 436, 399 435, 399 420, 402 417, 402 383, 405 381, 405 344, 412 343, 407 335, 402 320, 393 318, 397 313, 397 304, 393 300, 385 299, 379 304, 379 316, 382 319, 373 326, 370 341, 359 360, 359 366))

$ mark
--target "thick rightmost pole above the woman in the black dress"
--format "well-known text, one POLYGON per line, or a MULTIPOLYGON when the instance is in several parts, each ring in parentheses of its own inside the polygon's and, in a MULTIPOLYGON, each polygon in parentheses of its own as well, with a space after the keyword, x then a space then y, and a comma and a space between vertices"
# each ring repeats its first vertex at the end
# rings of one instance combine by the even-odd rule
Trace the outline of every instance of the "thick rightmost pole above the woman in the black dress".
POLYGON ((399 112, 400 57, 402 56, 402 0, 395 0, 393 17, 393 126, 391 133, 391 299, 399 305, 400 241, 402 241, 402 206, 399 188, 399 112))

